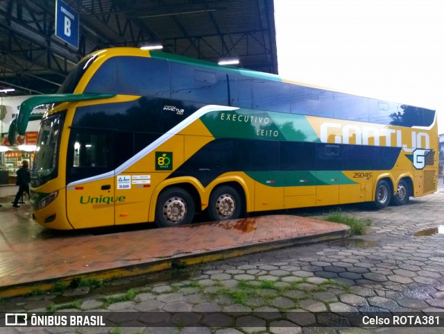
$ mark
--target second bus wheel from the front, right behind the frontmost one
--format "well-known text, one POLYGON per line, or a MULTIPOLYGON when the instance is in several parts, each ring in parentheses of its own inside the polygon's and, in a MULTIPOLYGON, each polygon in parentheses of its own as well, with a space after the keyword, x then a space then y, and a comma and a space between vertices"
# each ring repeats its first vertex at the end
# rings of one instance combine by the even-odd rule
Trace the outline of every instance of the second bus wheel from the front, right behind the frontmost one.
POLYGON ((210 195, 208 215, 212 221, 237 219, 241 215, 241 210, 241 195, 230 185, 216 187, 210 195))

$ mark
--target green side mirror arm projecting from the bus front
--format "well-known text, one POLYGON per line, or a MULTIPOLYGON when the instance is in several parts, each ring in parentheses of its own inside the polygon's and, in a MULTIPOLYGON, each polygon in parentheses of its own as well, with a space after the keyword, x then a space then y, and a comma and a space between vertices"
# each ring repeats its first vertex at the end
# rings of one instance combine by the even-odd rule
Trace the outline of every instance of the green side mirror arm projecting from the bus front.
POLYGON ((108 99, 115 96, 115 94, 46 94, 30 97, 29 99, 23 101, 22 105, 20 106, 19 115, 17 116, 17 122, 15 122, 14 125, 11 124, 9 128, 8 140, 10 144, 13 144, 15 142, 15 137, 17 136, 17 133, 19 135, 24 135, 26 133, 28 122, 30 120, 33 120, 31 112, 37 106, 41 106, 42 104, 61 103, 69 101, 108 99))

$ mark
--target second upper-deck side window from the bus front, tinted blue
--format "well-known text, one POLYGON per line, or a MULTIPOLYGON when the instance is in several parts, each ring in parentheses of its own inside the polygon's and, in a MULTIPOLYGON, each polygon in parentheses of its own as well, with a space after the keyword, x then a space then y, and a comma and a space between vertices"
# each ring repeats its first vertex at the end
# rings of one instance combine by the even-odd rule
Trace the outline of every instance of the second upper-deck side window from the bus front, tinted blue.
POLYGON ((223 72, 171 62, 171 99, 226 106, 227 76, 223 72))

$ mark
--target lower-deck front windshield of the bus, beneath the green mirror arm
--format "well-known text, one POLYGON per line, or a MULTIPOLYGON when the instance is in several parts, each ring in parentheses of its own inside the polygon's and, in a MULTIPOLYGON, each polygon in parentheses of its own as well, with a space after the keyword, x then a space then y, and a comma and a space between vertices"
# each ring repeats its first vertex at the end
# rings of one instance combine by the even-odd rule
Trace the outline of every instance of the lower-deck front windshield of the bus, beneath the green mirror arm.
POLYGON ((37 137, 33 170, 31 172, 31 185, 38 187, 49 180, 56 178, 58 144, 62 132, 64 113, 58 113, 42 121, 37 137))

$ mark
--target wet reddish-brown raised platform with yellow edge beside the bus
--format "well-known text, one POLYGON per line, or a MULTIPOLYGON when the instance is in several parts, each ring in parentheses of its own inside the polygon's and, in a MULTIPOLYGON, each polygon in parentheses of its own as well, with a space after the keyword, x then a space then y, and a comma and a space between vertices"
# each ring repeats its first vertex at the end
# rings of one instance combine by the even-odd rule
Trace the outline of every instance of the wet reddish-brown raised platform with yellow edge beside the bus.
POLYGON ((343 224, 293 215, 176 228, 52 231, 32 221, 28 203, 12 208, 11 201, 0 201, 0 297, 49 290, 79 277, 135 276, 350 234, 343 224))

